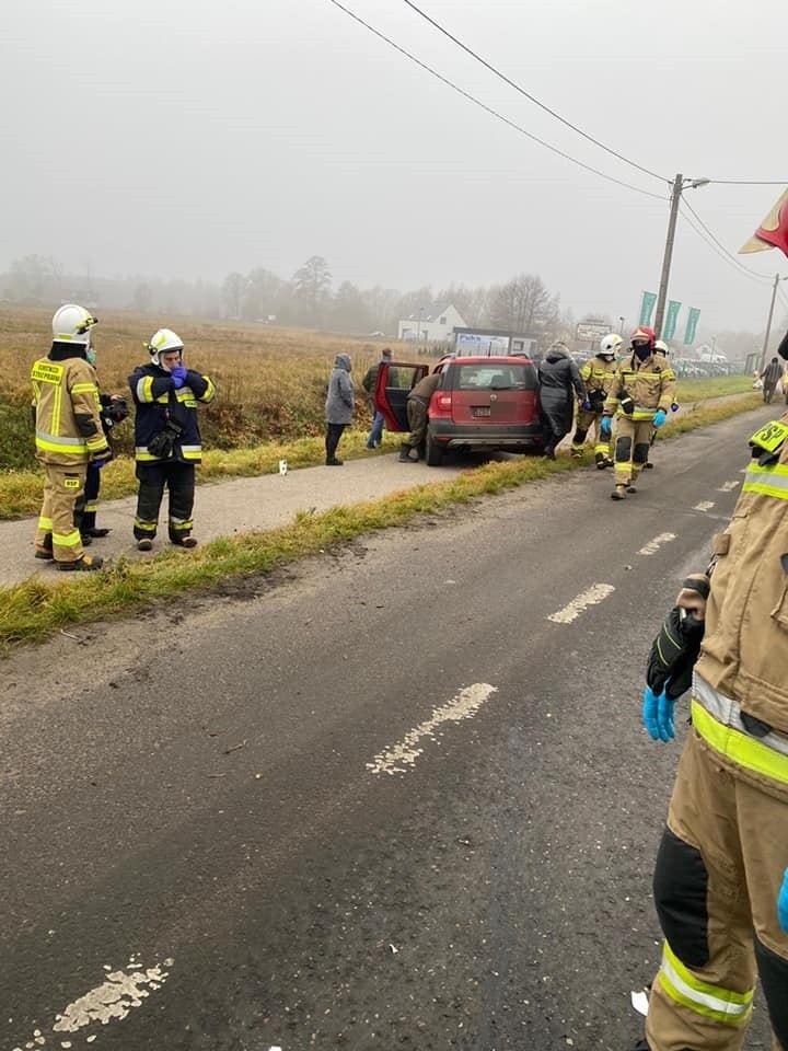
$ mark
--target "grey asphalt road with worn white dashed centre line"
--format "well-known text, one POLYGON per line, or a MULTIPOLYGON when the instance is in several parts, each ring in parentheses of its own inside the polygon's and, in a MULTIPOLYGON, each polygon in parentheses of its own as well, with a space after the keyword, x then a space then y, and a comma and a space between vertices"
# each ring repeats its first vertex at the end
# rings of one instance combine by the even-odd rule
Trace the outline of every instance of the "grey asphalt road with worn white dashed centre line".
POLYGON ((4 661, 0 1051, 631 1047, 645 659, 768 416, 4 661))

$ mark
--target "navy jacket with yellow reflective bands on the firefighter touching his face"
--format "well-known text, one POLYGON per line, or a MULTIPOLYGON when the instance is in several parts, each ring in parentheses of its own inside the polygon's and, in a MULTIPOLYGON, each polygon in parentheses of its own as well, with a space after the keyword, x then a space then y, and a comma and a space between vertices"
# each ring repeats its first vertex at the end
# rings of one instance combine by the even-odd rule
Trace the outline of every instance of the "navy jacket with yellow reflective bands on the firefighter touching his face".
POLYGON ((186 382, 175 389, 166 369, 150 362, 141 365, 129 377, 131 396, 137 408, 135 418, 135 459, 138 463, 177 460, 199 463, 202 459, 197 403, 208 404, 216 397, 212 380, 186 370, 186 382), (154 455, 149 446, 157 435, 172 436, 171 455, 154 455))

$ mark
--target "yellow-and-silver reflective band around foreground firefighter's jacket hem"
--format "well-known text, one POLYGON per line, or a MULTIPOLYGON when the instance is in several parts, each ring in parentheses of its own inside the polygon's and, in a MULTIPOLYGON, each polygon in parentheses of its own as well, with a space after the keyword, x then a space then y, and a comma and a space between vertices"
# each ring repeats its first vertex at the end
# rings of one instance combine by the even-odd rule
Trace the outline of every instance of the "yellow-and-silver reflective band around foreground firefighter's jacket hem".
POLYGON ((769 730, 749 734, 739 704, 718 693, 696 674, 692 690, 692 724, 716 752, 745 770, 788 785, 788 738, 769 730))

